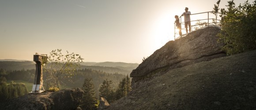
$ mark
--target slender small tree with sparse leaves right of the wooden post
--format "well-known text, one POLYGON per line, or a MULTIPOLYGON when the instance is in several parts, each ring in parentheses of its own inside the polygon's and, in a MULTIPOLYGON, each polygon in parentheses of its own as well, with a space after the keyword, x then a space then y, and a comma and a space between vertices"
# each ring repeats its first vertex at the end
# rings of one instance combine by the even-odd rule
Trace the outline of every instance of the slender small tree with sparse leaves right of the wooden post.
POLYGON ((59 82, 61 79, 66 78, 68 81, 72 82, 72 76, 76 74, 77 68, 79 68, 80 63, 83 59, 79 54, 62 53, 61 49, 56 49, 50 52, 48 61, 45 65, 45 72, 47 73, 47 83, 54 84, 54 87, 59 88, 59 82))

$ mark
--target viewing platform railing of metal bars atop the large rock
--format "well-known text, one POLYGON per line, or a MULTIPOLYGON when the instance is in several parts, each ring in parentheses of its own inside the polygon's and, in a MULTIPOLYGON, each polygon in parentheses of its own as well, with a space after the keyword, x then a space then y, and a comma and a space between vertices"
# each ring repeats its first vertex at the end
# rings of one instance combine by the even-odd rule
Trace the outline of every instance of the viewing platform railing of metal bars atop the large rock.
MULTIPOLYGON (((194 30, 200 29, 200 26, 202 26, 202 25, 203 26, 206 26, 206 25, 209 26, 210 24, 213 24, 213 25, 217 26, 218 24, 220 24, 221 17, 219 17, 218 14, 221 14, 221 13, 217 12, 216 15, 214 13, 216 13, 216 12, 215 11, 208 11, 208 12, 191 14, 190 15, 191 32, 194 31, 194 30), (203 14, 206 14, 206 13, 207 13, 207 18, 203 18, 204 16, 200 16, 200 15, 203 15, 203 14), (195 20, 195 18, 193 18, 193 15, 198 15, 197 17, 200 17, 200 18, 203 18, 203 19, 196 19, 195 20), (212 22, 209 21, 210 19, 212 20, 212 22), (214 20, 215 20, 215 22, 213 22, 214 20), (196 24, 194 22, 198 22, 198 23, 201 23, 201 24, 196 24), (194 23, 194 25, 192 25, 192 23, 194 23), (193 30, 193 28, 195 28, 195 27, 197 27, 197 29, 193 30)), ((182 30, 186 30, 186 28, 184 26, 185 24, 184 24, 184 22, 182 22, 182 19, 184 19, 184 16, 185 15, 179 17, 179 20, 180 20, 180 23, 181 23, 181 32, 182 32, 182 30)), ((189 27, 188 27, 188 33, 189 33, 189 27)), ((181 38, 185 35, 187 35, 186 31, 182 32, 181 36, 179 35, 179 29, 176 28, 176 24, 174 22, 174 40, 179 39, 179 38, 181 38), (178 35, 177 38, 176 38, 176 34, 178 35)))

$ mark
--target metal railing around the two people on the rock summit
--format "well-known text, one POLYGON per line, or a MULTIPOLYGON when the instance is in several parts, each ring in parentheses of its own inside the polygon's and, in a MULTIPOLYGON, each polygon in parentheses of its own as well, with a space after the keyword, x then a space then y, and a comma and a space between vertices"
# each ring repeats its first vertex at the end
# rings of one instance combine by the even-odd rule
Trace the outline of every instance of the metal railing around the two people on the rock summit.
MULTIPOLYGON (((198 28, 197 29, 199 29, 199 26, 201 26, 201 25, 207 25, 207 26, 209 26, 210 24, 213 24, 213 25, 218 25, 218 23, 220 23, 220 19, 218 19, 218 14, 221 14, 221 13, 216 13, 216 15, 215 14, 213 14, 213 12, 214 13, 216 13, 215 11, 208 11, 208 12, 202 12, 202 13, 196 13, 196 14, 191 14, 190 15, 190 18, 191 18, 191 16, 192 15, 199 15, 199 14, 204 14, 204 13, 207 13, 207 18, 205 18, 205 19, 196 19, 196 20, 192 20, 192 21, 190 21, 190 22, 201 22, 201 23, 203 23, 203 24, 196 24, 195 23, 195 25, 191 25, 191 32, 193 31, 192 29, 193 29, 193 27, 195 28, 195 27, 197 27, 198 26, 198 28), (212 17, 215 17, 215 18, 210 18, 209 17, 209 13, 210 14, 212 14, 212 17), (209 22, 209 20, 215 20, 215 22, 209 22), (207 22, 205 22, 207 20, 207 22), (218 22, 217 22, 218 21, 218 22)), ((179 17, 179 20, 180 20, 180 23, 181 23, 181 31, 182 30, 185 30, 185 26, 184 26, 184 22, 181 22, 182 21, 182 17, 184 18, 184 15, 183 16, 180 16, 179 17), (182 27, 184 27, 184 28, 182 28, 182 27)), ((191 23, 192 24, 192 23, 191 23)), ((189 28, 189 27, 188 27, 189 28)), ((177 31, 176 32, 176 25, 175 25, 175 22, 174 22, 174 40, 176 40, 176 39, 179 39, 179 38, 181 38, 181 37, 183 37, 183 36, 185 36, 186 34, 182 34, 181 36, 179 35, 179 31, 177 31), (179 35, 179 37, 177 37, 177 38, 175 38, 176 37, 176 34, 178 34, 179 35)), ((196 30, 196 29, 195 29, 196 30)))

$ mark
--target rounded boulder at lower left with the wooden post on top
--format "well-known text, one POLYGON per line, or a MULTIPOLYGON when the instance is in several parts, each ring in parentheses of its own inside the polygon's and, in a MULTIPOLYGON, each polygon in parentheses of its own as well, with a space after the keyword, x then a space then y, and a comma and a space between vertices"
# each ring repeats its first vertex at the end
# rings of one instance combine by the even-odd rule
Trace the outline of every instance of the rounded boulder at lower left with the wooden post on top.
POLYGON ((80 88, 30 93, 5 103, 1 110, 76 110, 83 98, 80 88))

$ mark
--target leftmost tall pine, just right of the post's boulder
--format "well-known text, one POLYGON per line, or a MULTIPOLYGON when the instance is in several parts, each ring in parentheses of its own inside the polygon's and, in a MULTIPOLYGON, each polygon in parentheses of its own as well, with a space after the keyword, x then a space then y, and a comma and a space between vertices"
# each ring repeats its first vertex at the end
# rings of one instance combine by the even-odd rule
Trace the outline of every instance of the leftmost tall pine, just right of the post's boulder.
POLYGON ((96 110, 95 104, 97 99, 95 97, 94 84, 92 83, 92 78, 85 78, 83 83, 83 99, 81 102, 81 108, 83 110, 96 110))

